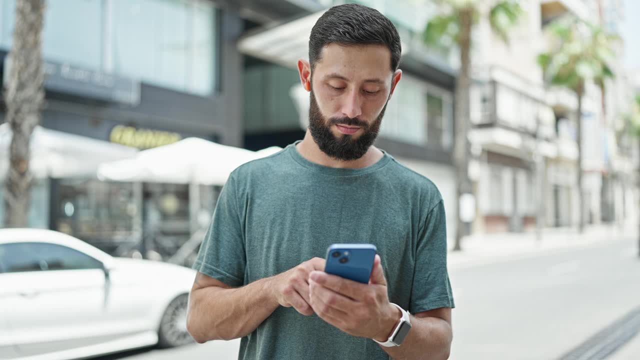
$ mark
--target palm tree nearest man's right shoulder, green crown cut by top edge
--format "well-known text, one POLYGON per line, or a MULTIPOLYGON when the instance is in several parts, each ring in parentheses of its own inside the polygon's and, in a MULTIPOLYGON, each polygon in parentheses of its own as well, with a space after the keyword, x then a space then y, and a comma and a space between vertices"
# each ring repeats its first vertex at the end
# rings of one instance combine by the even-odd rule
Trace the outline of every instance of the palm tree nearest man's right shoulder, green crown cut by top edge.
MULTIPOLYGON (((516 24, 522 14, 522 8, 515 0, 436 0, 440 10, 427 23, 424 40, 428 45, 443 47, 455 44, 460 49, 460 73, 456 79, 455 127, 456 141, 454 145, 454 165, 456 167, 456 189, 458 199, 464 193, 472 192, 468 179, 469 144, 467 139, 470 117, 471 86, 471 39, 477 20, 488 17, 493 31, 505 42, 508 42, 508 31, 516 24), (483 12, 484 9, 488 11, 483 12)), ((465 234, 465 223, 460 219, 460 206, 457 208, 456 240, 453 250, 461 250, 462 236, 465 234)))

